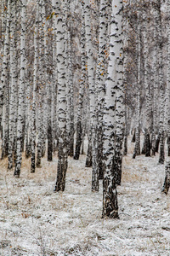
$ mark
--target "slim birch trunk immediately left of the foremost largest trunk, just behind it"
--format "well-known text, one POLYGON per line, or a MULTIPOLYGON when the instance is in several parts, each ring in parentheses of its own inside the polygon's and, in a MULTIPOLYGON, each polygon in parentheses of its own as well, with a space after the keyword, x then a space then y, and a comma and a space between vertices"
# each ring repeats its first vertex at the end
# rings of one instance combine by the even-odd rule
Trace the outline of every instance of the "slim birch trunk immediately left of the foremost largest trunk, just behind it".
MULTIPOLYGON (((99 5, 99 53, 96 72, 96 116, 97 124, 95 127, 96 141, 96 165, 94 166, 94 185, 99 187, 99 178, 103 178, 103 108, 105 97, 106 61, 107 61, 107 30, 108 30, 108 1, 101 0, 99 5), (98 176, 98 177, 97 177, 98 176)), ((93 181, 92 181, 93 182, 93 181)))

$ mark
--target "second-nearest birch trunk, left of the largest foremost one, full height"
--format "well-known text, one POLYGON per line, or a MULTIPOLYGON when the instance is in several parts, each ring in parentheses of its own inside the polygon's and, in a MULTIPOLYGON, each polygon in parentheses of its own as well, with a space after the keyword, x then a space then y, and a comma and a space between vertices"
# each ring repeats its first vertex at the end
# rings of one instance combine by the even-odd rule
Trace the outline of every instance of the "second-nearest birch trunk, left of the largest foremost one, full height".
MULTIPOLYGON (((54 191, 65 190, 65 175, 67 170, 66 145, 66 84, 65 84, 65 24, 61 14, 60 2, 54 0, 55 19, 57 19, 57 67, 58 67, 58 110, 59 110, 59 160, 57 167, 57 180, 54 191)), ((67 2, 63 1, 66 5, 67 2)))

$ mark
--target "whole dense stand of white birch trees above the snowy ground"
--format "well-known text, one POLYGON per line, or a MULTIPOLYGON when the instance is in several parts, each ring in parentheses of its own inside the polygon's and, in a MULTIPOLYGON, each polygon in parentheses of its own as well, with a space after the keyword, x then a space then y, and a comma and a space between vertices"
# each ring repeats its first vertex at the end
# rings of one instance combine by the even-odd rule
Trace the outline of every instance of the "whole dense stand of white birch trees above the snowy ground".
POLYGON ((58 154, 54 191, 64 191, 69 157, 79 160, 88 137, 92 191, 103 179, 102 216, 119 218, 122 157, 133 134, 133 159, 159 154, 159 164, 167 160, 167 194, 169 4, 1 1, 1 160, 8 160, 14 178, 23 154, 31 158, 30 172, 42 166, 42 157, 52 161, 58 154))

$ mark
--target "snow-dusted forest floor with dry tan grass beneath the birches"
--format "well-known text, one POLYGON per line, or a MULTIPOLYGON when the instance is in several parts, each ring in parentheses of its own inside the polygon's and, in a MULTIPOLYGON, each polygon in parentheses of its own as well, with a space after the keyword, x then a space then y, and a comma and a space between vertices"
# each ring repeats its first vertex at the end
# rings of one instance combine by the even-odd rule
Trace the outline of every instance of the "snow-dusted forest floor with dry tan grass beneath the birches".
MULTIPOLYGON (((130 141, 129 141, 130 142, 130 141)), ((164 166, 156 157, 123 157, 119 219, 101 218, 102 182, 91 192, 86 155, 69 158, 64 193, 54 193, 57 155, 20 178, 0 162, 0 255, 170 255, 170 197, 161 194, 164 166)))

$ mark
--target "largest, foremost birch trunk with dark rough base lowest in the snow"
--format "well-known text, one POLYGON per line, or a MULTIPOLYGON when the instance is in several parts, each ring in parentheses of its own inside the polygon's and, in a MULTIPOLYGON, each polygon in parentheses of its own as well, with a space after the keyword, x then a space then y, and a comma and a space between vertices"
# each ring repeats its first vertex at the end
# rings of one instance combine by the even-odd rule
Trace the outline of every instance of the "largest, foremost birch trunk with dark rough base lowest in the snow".
MULTIPOLYGON (((118 218, 117 169, 115 166, 116 136, 116 86, 122 86, 122 1, 112 2, 111 44, 108 76, 105 82, 104 108, 104 180, 103 180, 103 217, 118 218)), ((120 97, 121 93, 120 93, 120 97)), ((117 105, 122 113, 122 105, 117 105)), ((122 116, 122 114, 121 114, 122 116)), ((118 121, 118 119, 117 119, 118 121)), ((121 130, 121 126, 120 130, 121 130)), ((117 123, 118 128, 118 123, 117 123)), ((117 130, 119 131, 119 130, 117 130)), ((121 135, 121 133, 120 133, 121 135)), ((117 134, 119 137, 119 133, 117 134)), ((120 136, 120 139, 122 137, 120 136)))

